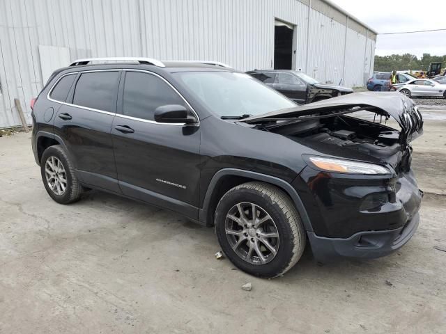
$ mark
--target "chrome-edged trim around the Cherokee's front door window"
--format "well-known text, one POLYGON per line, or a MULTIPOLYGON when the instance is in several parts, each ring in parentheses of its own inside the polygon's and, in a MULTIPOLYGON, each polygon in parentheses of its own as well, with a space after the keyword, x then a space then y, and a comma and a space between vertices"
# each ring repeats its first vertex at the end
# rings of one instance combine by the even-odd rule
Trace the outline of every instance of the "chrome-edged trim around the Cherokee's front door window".
POLYGON ((125 74, 127 72, 142 72, 142 73, 153 75, 153 76, 161 79, 162 81, 164 81, 172 90, 174 90, 174 92, 180 97, 180 99, 185 102, 185 104, 187 105, 187 108, 190 109, 190 111, 192 111, 192 113, 194 114, 195 118, 197 118, 197 123, 192 126, 198 127, 200 125, 200 118, 198 116, 198 113, 192 108, 190 103, 187 102, 185 97, 183 97, 183 95, 181 95, 181 93, 178 92, 178 90, 169 81, 167 81, 167 79, 164 79, 162 76, 160 76, 160 74, 157 74, 155 72, 151 72, 148 70, 136 70, 136 69, 129 69, 129 68, 123 69, 123 74, 121 75, 121 81, 119 83, 119 88, 118 88, 118 103, 117 103, 118 109, 116 110, 116 116, 118 116, 120 118, 128 118, 129 120, 138 120, 140 122, 152 123, 152 124, 157 124, 157 125, 176 125, 176 126, 178 126, 178 125, 184 126, 185 125, 185 123, 161 123, 161 122, 156 122, 155 120, 146 120, 144 118, 137 118, 137 117, 133 117, 133 116, 124 115, 123 114, 123 97, 124 97, 125 74))

